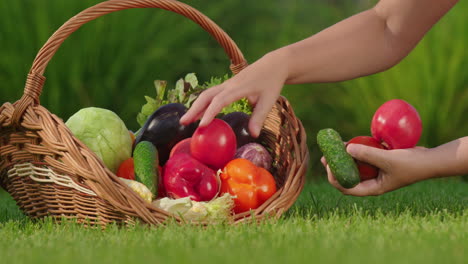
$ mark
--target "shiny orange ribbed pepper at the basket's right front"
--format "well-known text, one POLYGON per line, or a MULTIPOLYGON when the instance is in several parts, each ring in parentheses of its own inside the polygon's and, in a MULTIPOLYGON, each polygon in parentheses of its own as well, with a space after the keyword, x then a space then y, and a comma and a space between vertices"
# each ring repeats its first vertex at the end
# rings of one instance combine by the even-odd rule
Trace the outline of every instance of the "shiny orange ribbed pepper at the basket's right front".
POLYGON ((246 159, 231 160, 220 177, 221 193, 235 196, 235 213, 258 208, 276 192, 273 176, 246 159))

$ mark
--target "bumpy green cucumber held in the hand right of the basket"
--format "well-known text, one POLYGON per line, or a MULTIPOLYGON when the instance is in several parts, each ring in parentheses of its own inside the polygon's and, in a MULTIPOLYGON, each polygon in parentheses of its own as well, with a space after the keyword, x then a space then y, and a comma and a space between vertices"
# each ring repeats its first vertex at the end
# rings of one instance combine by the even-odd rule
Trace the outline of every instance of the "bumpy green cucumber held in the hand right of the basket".
POLYGON ((359 170, 338 132, 325 128, 318 132, 317 143, 336 180, 344 188, 352 188, 360 182, 359 170))

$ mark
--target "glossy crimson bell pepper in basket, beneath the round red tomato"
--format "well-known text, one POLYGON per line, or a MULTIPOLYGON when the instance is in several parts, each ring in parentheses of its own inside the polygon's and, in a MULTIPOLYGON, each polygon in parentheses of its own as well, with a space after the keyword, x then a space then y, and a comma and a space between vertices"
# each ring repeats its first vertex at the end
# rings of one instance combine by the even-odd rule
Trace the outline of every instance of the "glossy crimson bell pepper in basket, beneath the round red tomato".
POLYGON ((163 168, 164 187, 171 198, 209 201, 219 192, 218 181, 214 170, 186 153, 175 154, 163 168))

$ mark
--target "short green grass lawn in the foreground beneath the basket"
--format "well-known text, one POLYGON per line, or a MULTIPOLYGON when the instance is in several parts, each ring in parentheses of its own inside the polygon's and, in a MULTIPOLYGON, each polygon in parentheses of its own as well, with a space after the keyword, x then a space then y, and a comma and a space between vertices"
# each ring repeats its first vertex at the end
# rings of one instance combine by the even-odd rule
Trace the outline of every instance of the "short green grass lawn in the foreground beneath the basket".
POLYGON ((347 197, 308 184, 278 221, 91 230, 30 221, 0 191, 1 263, 466 263, 468 184, 347 197))

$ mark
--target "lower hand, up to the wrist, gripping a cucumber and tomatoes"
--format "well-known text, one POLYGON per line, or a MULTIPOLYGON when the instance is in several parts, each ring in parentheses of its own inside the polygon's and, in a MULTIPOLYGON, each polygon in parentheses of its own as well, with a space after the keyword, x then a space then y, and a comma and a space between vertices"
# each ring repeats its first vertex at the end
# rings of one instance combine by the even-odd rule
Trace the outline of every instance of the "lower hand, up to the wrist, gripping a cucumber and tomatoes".
POLYGON ((381 195, 410 185, 417 181, 434 177, 435 171, 431 164, 430 151, 427 148, 416 147, 411 149, 382 150, 359 144, 350 144, 347 151, 360 161, 372 164, 380 169, 375 179, 363 181, 351 189, 340 186, 330 171, 324 157, 322 164, 327 169, 328 181, 343 194, 354 196, 381 195))

